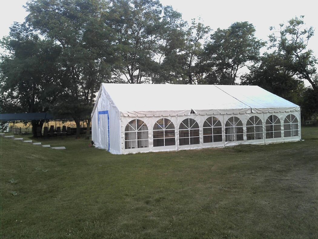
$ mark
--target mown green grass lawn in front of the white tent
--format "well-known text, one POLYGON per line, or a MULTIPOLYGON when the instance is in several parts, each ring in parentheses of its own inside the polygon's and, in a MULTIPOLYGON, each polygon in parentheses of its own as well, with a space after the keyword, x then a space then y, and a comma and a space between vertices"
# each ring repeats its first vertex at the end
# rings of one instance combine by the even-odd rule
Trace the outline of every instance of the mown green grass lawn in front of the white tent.
POLYGON ((118 156, 0 137, 0 237, 318 238, 318 127, 302 138, 118 156))

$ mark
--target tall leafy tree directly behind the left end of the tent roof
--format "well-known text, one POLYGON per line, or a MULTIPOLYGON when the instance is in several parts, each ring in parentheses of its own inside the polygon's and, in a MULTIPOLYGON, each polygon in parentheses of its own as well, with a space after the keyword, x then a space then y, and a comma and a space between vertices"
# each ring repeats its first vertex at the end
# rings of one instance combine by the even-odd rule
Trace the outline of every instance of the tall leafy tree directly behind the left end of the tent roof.
MULTIPOLYGON (((113 0, 107 25, 116 31, 121 62, 112 74, 118 82, 167 82, 165 59, 182 46, 181 14, 157 0, 113 0)), ((172 77, 173 78, 173 77, 172 77)))

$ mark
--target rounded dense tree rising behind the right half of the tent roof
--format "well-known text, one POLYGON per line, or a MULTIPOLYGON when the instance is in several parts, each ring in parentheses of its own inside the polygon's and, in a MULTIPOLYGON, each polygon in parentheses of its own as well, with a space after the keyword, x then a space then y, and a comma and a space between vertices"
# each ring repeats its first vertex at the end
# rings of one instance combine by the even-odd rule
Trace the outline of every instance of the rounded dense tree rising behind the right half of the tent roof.
POLYGON ((205 46, 211 69, 208 83, 235 84, 239 69, 259 59, 259 49, 265 42, 255 37, 255 28, 248 22, 233 23, 227 29, 218 28, 205 46))

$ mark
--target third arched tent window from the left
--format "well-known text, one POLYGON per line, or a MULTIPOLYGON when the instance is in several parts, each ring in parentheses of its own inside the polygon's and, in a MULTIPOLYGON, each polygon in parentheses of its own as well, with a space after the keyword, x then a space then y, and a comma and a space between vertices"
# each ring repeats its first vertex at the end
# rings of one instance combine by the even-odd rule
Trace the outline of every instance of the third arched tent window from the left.
POLYGON ((197 121, 188 118, 179 126, 179 145, 190 145, 200 143, 199 125, 197 121))

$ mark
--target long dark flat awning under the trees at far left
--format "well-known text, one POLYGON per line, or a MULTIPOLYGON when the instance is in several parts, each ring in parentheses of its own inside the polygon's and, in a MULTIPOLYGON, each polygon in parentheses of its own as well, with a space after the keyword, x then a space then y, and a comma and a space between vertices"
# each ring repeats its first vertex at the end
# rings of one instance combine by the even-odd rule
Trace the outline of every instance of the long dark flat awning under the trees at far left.
POLYGON ((13 113, 0 114, 0 121, 55 120, 50 113, 13 113))

